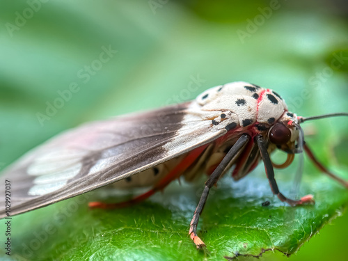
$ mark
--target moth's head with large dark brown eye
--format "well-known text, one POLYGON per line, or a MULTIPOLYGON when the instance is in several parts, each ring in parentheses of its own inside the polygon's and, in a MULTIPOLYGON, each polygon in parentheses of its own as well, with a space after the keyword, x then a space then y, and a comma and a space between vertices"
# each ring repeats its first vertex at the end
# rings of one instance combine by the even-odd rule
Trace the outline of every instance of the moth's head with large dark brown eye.
POLYGON ((280 150, 289 154, 301 153, 303 131, 295 113, 285 112, 269 128, 268 138, 280 150))

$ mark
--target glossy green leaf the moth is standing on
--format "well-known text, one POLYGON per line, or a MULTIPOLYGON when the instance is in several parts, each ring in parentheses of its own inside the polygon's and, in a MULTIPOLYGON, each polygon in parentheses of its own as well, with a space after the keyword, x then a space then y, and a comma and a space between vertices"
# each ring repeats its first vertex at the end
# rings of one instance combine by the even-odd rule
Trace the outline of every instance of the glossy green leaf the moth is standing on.
MULTIPOLYGON (((12 220, 13 252, 30 260, 214 260, 278 250, 290 255, 340 215, 348 193, 316 173, 301 194, 314 206, 289 207, 271 196, 262 169, 240 182, 226 177, 209 195, 199 234, 207 253, 196 251, 188 225, 202 186, 172 184, 164 195, 124 209, 88 209, 92 195, 38 209, 12 220), (262 207, 269 200, 270 205, 262 207), (30 221, 30 226, 28 223, 30 221), (190 258, 188 258, 190 257, 190 258)), ((281 178, 279 180, 282 180, 281 178)), ((287 192, 289 182, 279 182, 287 192)), ((287 193, 289 194, 289 193, 287 193)), ((2 229, 3 230, 3 229, 2 229)))

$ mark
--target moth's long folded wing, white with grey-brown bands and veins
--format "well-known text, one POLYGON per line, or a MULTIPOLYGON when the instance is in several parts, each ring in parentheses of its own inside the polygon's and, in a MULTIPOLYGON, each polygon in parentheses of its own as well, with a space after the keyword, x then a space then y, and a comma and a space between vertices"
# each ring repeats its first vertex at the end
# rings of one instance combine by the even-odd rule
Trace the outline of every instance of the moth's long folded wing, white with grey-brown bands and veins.
MULTIPOLYGON (((11 215, 103 187, 189 152, 226 134, 191 109, 193 102, 63 132, 4 171, 11 215)), ((6 216, 1 189, 0 218, 6 216)))

